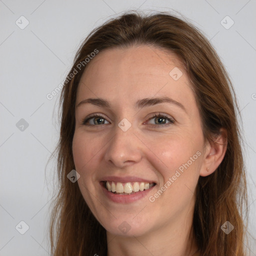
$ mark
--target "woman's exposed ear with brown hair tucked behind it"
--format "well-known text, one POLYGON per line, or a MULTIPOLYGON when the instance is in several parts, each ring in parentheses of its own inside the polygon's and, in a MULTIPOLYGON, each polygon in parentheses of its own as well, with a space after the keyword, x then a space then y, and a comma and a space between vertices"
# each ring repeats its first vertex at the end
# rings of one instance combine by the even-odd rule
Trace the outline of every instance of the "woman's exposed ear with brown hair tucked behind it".
POLYGON ((207 142, 203 155, 203 163, 200 176, 208 176, 216 170, 224 158, 227 147, 227 132, 224 128, 220 129, 220 134, 212 142, 207 142))

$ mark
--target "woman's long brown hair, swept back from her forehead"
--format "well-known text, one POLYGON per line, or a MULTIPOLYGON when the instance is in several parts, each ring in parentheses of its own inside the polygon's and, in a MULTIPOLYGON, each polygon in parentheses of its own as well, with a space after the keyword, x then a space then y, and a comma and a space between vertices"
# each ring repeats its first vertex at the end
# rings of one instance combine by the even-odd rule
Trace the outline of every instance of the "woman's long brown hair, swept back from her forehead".
POLYGON ((76 91, 86 68, 84 59, 95 49, 100 54, 107 48, 139 44, 161 48, 181 59, 192 85, 205 140, 212 142, 221 128, 227 131, 224 159, 212 174, 198 179, 193 229, 201 255, 244 256, 247 221, 242 214, 247 220, 246 176, 236 116, 238 106, 230 79, 213 47, 189 22, 167 12, 146 15, 138 11, 111 18, 90 32, 76 53, 62 88, 60 138, 55 149, 59 190, 50 219, 51 253, 106 255, 106 230, 91 213, 77 182, 66 177, 75 169, 72 139, 76 91), (221 229, 226 221, 234 226, 229 234, 221 229))

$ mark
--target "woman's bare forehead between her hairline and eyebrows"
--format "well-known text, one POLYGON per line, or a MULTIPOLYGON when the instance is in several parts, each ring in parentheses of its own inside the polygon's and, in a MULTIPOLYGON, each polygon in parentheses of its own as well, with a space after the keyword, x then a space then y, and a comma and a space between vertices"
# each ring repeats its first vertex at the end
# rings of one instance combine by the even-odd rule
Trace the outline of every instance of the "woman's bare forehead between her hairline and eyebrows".
POLYGON ((116 106, 118 100, 132 104, 153 96, 170 96, 196 107, 181 61, 173 53, 148 45, 99 52, 86 66, 77 90, 77 101, 100 97, 116 106))

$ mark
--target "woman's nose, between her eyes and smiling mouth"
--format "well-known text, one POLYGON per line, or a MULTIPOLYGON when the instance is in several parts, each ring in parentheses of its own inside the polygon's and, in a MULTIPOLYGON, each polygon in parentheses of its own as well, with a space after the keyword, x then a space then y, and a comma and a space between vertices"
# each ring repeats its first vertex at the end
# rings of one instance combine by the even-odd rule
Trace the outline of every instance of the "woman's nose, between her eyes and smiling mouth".
POLYGON ((141 143, 133 133, 132 126, 123 131, 116 125, 115 134, 107 144, 104 160, 118 168, 139 162, 142 158, 141 143))

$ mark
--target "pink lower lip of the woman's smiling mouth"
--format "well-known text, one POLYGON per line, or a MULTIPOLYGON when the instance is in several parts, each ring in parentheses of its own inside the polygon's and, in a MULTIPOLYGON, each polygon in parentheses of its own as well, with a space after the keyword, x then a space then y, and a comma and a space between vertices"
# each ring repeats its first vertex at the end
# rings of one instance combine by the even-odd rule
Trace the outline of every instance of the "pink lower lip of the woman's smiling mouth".
POLYGON ((100 182, 100 185, 103 189, 103 192, 105 193, 105 195, 112 200, 113 202, 119 202, 119 203, 128 203, 128 202, 134 202, 137 201, 143 197, 145 197, 147 195, 147 193, 155 186, 151 186, 150 188, 143 190, 143 191, 139 191, 133 194, 114 194, 110 191, 108 191, 103 182, 100 182))

